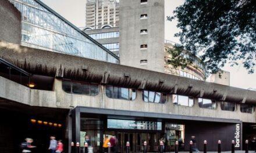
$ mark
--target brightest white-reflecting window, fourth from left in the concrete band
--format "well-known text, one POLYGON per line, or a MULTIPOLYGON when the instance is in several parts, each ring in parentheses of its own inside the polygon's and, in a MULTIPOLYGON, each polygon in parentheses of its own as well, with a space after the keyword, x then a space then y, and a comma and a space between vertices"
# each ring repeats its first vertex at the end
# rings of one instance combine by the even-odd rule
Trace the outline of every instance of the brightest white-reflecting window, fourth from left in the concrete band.
POLYGON ((194 98, 189 96, 172 94, 172 103, 176 105, 184 105, 184 106, 192 107, 194 105, 194 98))

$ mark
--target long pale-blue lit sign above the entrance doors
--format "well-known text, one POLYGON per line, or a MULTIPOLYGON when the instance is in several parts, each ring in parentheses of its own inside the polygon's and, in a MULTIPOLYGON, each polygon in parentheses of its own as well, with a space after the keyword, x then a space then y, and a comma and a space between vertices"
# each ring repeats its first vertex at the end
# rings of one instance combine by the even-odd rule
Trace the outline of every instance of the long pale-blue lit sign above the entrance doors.
POLYGON ((108 119, 108 129, 162 130, 162 122, 108 119))

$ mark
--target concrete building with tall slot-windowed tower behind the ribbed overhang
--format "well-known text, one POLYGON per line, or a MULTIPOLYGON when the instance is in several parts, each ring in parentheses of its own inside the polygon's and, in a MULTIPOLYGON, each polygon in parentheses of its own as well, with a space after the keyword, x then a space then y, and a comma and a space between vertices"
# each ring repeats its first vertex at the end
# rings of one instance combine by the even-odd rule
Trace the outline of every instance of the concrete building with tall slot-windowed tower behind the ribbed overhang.
POLYGON ((83 31, 119 56, 122 65, 205 80, 204 64, 185 50, 183 56, 193 58, 193 65, 183 70, 168 63, 174 43, 165 40, 164 0, 121 0, 119 7, 119 27, 83 31))

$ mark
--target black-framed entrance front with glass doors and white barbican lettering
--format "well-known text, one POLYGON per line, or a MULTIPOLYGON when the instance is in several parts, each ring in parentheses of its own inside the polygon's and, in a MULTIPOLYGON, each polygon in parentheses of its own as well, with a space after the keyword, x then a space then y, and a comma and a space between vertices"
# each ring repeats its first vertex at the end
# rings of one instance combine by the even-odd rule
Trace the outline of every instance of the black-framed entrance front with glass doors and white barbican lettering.
MULTIPOLYGON (((72 110, 70 143, 79 142, 80 150, 83 150, 87 136, 93 151, 103 152, 102 145, 105 136, 108 136, 109 139, 115 139, 116 152, 126 152, 127 141, 131 152, 143 152, 144 141, 147 142, 148 152, 158 152, 160 140, 165 144, 165 151, 173 151, 175 141, 178 141, 180 151, 188 151, 191 136, 195 136, 199 150, 202 150, 203 142, 207 140, 208 151, 216 151, 218 140, 221 140, 222 150, 228 151, 231 149, 231 141, 236 140, 238 134, 236 150, 240 150, 243 141, 242 123, 233 119, 211 119, 76 107, 72 110)), ((73 148, 73 151, 76 149, 73 148)))

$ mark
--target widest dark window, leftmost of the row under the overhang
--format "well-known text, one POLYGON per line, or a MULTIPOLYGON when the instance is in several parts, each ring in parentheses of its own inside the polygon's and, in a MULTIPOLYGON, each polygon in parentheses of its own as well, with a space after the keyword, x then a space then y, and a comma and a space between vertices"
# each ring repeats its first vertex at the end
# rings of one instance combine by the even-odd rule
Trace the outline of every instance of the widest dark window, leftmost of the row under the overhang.
POLYGON ((85 82, 62 80, 62 89, 66 93, 84 94, 88 96, 97 96, 99 93, 99 85, 85 82))

